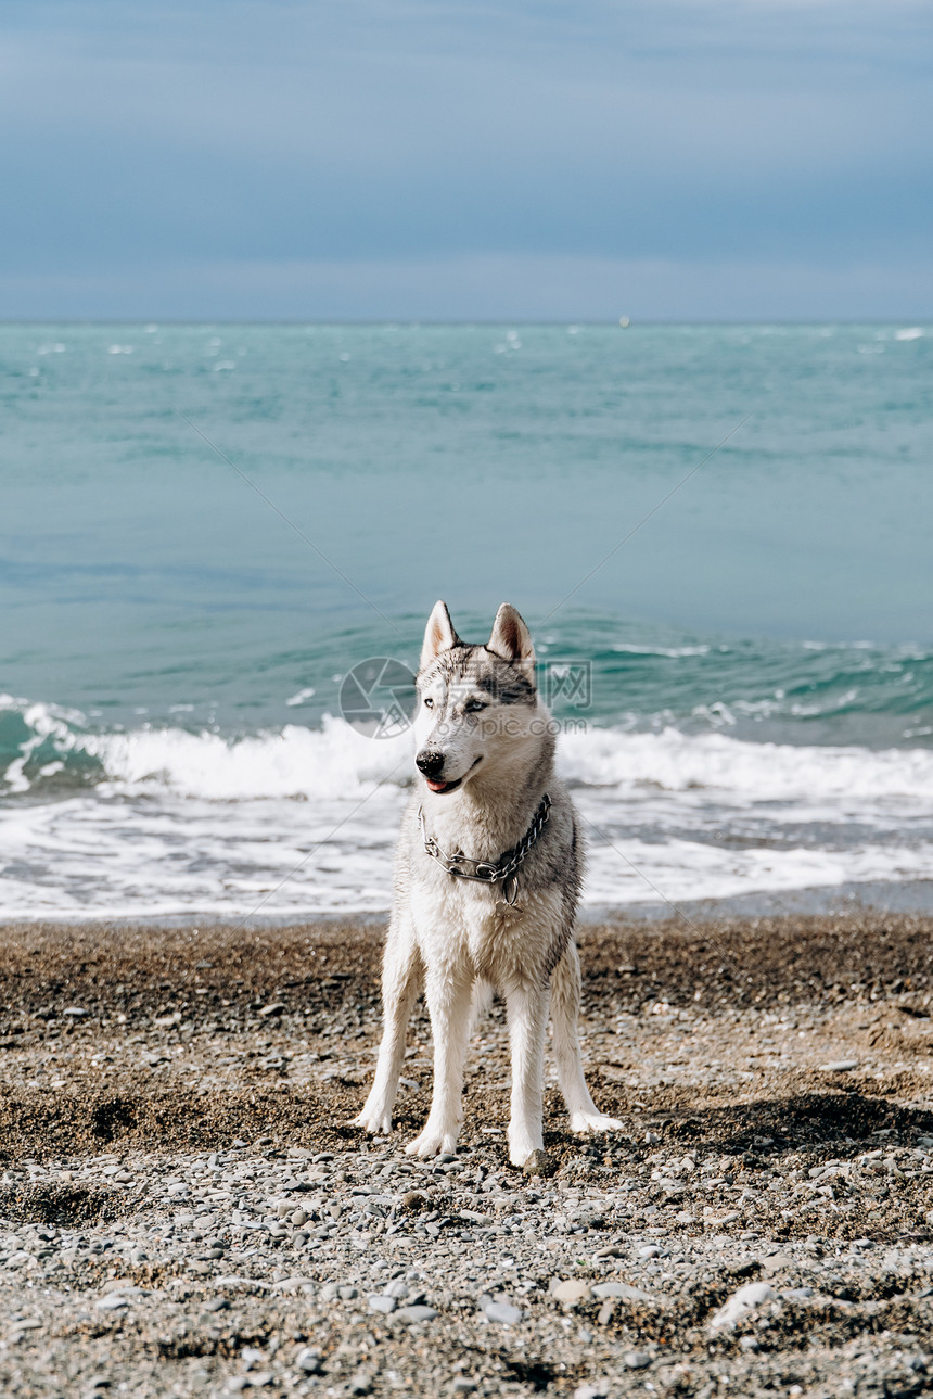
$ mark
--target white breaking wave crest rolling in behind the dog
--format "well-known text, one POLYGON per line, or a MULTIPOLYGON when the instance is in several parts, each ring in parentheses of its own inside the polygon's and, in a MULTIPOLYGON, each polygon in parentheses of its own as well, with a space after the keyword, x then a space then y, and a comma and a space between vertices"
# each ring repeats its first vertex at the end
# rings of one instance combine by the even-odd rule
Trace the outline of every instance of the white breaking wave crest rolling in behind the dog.
MULTIPOLYGON (((77 711, 11 697, 0 697, 0 718, 10 729, 7 743, 17 740, 0 774, 6 796, 52 795, 78 772, 101 796, 330 800, 364 795, 373 782, 404 786, 413 772, 410 733, 373 740, 329 715, 316 729, 290 723, 241 737, 157 726, 94 732, 77 711)), ((933 751, 920 747, 753 743, 671 725, 656 733, 568 726, 560 764, 574 786, 611 789, 627 799, 655 789, 706 792, 740 804, 905 802, 933 809, 933 751)))

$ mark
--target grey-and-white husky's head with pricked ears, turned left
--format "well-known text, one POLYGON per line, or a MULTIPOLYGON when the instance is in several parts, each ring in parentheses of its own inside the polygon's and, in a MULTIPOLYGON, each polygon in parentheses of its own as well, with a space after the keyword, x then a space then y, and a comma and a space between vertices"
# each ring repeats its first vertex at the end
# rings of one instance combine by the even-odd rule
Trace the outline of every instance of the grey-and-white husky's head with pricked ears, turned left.
POLYGON ((456 792, 526 762, 547 730, 534 681, 534 646, 515 607, 502 603, 484 646, 460 641, 445 603, 424 634, 414 720, 415 764, 428 789, 456 792))

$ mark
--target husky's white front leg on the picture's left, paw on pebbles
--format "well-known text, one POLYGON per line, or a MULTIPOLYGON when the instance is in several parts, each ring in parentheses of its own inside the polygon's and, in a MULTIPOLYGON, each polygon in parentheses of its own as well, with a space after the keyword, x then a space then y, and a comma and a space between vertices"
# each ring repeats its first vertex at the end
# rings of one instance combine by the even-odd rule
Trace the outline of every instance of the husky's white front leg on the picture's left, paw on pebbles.
POLYGON ((424 1130, 406 1151, 436 1156, 456 1150, 463 1119, 463 1063, 473 1013, 471 978, 452 967, 428 967, 427 1000, 434 1034, 434 1095, 424 1130))

